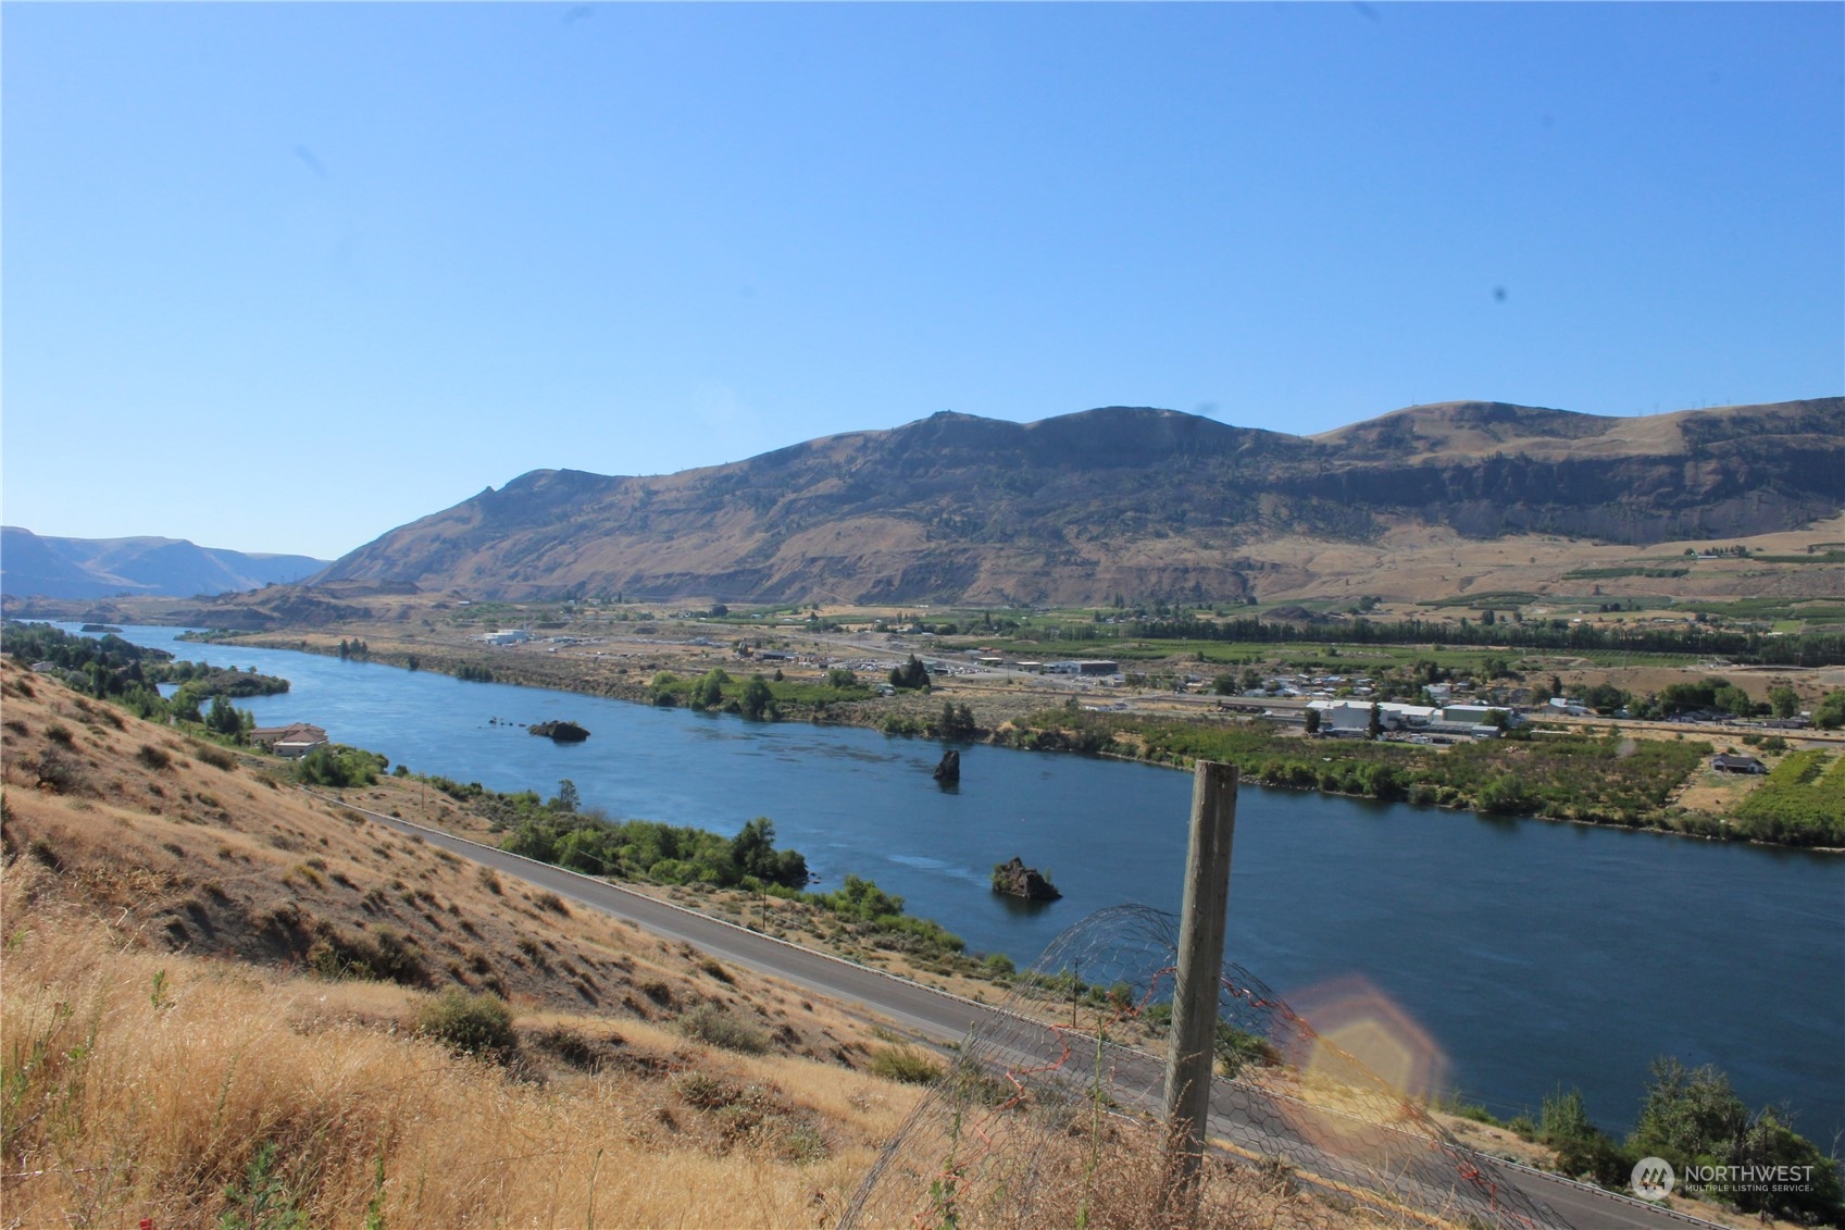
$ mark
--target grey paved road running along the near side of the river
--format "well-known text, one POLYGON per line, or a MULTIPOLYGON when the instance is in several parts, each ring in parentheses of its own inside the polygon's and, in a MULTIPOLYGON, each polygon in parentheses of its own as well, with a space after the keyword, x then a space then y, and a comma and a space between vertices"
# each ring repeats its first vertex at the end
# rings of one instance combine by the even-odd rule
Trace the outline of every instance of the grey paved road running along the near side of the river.
MULTIPOLYGON (((336 802, 343 803, 343 800, 336 802)), ((343 805, 351 807, 351 803, 343 805)), ((657 901, 609 881, 579 875, 548 862, 535 862, 395 816, 382 816, 373 811, 365 811, 363 814, 402 833, 417 835, 432 846, 441 846, 465 859, 485 862, 498 872, 526 879, 539 888, 550 888, 589 909, 637 923, 653 935, 683 940, 756 973, 777 977, 803 986, 815 995, 875 1012, 935 1042, 961 1042, 976 1027, 987 1034, 1017 1034, 1022 1025, 1020 1019, 994 1012, 991 1007, 970 999, 919 986, 773 936, 745 931, 734 923, 657 901)), ((1041 1029, 1035 1023, 1031 1027, 1041 1029)), ((1041 1047, 1031 1049, 1042 1053, 1041 1047)), ((1157 1060, 1127 1051, 1118 1058, 1122 1067, 1138 1067, 1148 1062, 1157 1060)), ((1140 1073, 1137 1084, 1159 1088, 1159 1082, 1146 1073, 1140 1073)), ((1271 1156, 1301 1156, 1303 1151, 1317 1152, 1306 1138, 1288 1127, 1290 1121, 1301 1121, 1301 1114, 1297 1106, 1282 1108, 1268 1093, 1238 1084, 1227 1099, 1212 1099, 1214 1117, 1210 1132, 1253 1152, 1271 1156)), ((1577 1230, 1672 1230, 1688 1224, 1712 1224, 1596 1188, 1572 1184, 1555 1175, 1507 1167, 1485 1154, 1469 1156, 1480 1165, 1489 1182, 1522 1189, 1535 1200, 1548 1204, 1559 1215, 1559 1224, 1577 1226, 1577 1230)), ((1323 1169, 1336 1175, 1339 1165, 1336 1160, 1327 1158, 1323 1169)))

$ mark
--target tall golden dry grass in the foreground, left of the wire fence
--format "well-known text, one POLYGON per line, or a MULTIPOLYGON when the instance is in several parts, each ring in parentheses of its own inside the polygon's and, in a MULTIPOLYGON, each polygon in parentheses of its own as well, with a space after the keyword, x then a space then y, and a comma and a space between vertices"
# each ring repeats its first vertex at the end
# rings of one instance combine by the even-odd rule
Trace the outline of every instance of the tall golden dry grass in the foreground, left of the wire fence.
POLYGON ((6 1224, 216 1221, 264 1145, 255 1186, 308 1224, 814 1224, 913 1097, 555 1014, 522 1023, 528 1051, 576 1029, 622 1060, 456 1058, 389 1027, 415 992, 148 951, 55 881, 24 857, 0 886, 6 1224))

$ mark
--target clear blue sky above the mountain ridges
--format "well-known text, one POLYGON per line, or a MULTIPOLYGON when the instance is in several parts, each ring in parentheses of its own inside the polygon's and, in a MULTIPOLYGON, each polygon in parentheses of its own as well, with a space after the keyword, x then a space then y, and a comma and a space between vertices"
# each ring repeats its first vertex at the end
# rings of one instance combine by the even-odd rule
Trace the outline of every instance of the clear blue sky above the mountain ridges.
POLYGON ((1845 390, 1838 4, 0 9, 4 506, 336 556, 935 410, 1845 390))

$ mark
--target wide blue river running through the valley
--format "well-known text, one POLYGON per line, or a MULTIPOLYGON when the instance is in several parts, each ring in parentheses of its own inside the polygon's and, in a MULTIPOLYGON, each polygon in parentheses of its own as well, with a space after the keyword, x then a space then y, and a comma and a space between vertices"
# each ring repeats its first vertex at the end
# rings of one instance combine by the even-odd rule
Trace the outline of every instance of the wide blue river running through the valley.
MULTIPOLYGON (((498 790, 552 794, 570 778, 614 816, 721 833, 769 816, 821 886, 875 879, 972 949, 1020 964, 1090 910, 1175 909, 1181 894, 1192 779, 1170 768, 963 746, 961 787, 946 792, 930 779, 934 741, 186 645, 177 632, 127 635, 293 681, 245 702, 258 724, 315 722, 393 765, 498 790), (572 718, 592 737, 554 744, 493 718, 572 718), (1013 855, 1063 899, 996 898, 991 868, 1013 855)), ((1648 1064, 1675 1055, 1718 1064, 1753 1106, 1791 1106, 1821 1145, 1845 1128, 1838 855, 1245 787, 1229 955, 1332 1018, 1395 1019, 1376 1003, 1395 1005, 1415 1023, 1397 1032, 1419 1027, 1448 1082, 1500 1114, 1579 1086, 1596 1121, 1625 1128, 1648 1064)))

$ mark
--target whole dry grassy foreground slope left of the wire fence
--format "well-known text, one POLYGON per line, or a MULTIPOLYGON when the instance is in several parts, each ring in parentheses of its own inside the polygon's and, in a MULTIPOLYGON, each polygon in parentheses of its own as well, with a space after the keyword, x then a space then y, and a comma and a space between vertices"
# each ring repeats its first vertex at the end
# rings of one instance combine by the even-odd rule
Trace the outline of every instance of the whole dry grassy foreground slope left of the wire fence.
POLYGON ((814 1224, 915 1101, 828 1005, 4 689, 4 1224, 814 1224), (419 1032, 489 984, 509 1062, 419 1032))

